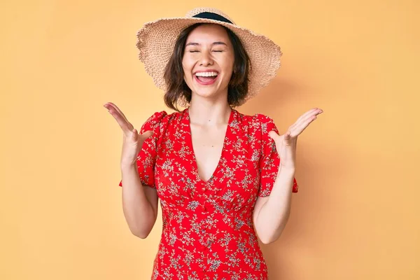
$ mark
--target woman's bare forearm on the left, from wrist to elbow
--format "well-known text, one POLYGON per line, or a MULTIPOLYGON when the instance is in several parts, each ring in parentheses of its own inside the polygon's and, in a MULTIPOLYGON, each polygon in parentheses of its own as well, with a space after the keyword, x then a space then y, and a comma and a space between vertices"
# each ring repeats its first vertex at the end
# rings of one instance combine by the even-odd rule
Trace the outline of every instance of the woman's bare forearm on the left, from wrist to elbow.
POLYGON ((147 237, 155 223, 155 213, 141 184, 137 166, 122 166, 123 211, 127 224, 133 233, 147 237))

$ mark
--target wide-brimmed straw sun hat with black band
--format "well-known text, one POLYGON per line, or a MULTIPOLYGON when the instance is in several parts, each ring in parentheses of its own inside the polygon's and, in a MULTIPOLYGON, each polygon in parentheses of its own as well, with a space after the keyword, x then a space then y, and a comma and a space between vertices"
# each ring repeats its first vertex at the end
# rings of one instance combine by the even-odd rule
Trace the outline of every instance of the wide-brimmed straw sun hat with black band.
POLYGON ((137 48, 139 59, 144 62, 146 72, 153 78, 157 87, 166 90, 163 78, 165 67, 174 51, 174 45, 179 33, 195 23, 216 23, 232 30, 241 40, 251 60, 248 94, 246 100, 258 94, 276 76, 280 67, 282 52, 266 36, 255 34, 235 22, 216 8, 195 8, 184 18, 160 18, 146 22, 137 32, 137 48))

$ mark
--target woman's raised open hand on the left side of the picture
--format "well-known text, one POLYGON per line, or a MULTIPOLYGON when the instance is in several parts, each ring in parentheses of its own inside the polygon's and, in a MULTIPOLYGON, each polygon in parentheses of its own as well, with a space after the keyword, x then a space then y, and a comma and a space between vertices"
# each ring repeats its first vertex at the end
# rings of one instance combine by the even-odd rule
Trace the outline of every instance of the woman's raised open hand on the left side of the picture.
POLYGON ((125 118, 123 112, 118 109, 116 104, 107 102, 104 107, 108 109, 109 113, 117 120, 123 130, 123 151, 121 153, 121 166, 134 165, 137 167, 137 155, 141 146, 148 137, 151 137, 153 132, 148 130, 144 134, 139 134, 133 125, 125 118))

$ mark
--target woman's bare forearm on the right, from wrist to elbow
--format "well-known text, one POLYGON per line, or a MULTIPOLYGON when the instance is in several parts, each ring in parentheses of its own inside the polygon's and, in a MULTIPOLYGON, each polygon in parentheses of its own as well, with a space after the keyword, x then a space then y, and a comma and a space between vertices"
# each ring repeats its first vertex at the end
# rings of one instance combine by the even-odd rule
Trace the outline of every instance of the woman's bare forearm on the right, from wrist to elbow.
POLYGON ((276 241, 286 227, 294 176, 295 169, 281 168, 267 202, 260 209, 257 226, 260 239, 265 244, 276 241))

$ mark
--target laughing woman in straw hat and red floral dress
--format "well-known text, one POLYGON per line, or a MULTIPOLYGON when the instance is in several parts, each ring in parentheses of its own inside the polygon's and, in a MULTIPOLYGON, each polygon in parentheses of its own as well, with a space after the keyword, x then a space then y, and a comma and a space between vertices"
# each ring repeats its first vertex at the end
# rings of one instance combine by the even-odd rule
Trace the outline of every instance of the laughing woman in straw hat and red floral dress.
POLYGON ((138 36, 139 57, 175 112, 154 113, 137 133, 115 104, 104 106, 124 134, 120 186, 134 235, 151 232, 160 199, 151 279, 267 279, 257 236, 268 244, 285 227, 297 136, 321 109, 281 136, 272 118, 233 109, 274 78, 281 51, 220 10, 149 22, 138 36))

